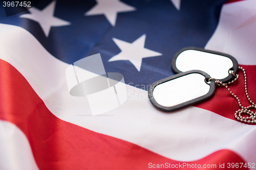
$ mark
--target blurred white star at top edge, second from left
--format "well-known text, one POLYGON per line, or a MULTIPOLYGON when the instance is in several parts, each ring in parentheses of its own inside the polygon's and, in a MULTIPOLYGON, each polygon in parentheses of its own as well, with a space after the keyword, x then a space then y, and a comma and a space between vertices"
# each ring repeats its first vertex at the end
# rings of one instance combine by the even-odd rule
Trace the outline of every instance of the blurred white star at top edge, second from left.
POLYGON ((116 18, 118 12, 129 12, 135 11, 136 8, 124 4, 119 0, 96 0, 97 4, 90 9, 84 15, 105 15, 106 19, 109 20, 111 25, 114 27, 116 25, 116 18))

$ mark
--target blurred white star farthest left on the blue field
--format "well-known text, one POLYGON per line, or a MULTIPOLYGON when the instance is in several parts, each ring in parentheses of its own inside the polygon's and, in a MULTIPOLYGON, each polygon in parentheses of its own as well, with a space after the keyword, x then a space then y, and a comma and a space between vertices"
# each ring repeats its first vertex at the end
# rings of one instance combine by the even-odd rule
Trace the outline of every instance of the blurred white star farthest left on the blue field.
POLYGON ((54 16, 55 5, 56 1, 53 1, 43 10, 39 10, 33 7, 29 9, 30 14, 23 14, 19 17, 31 19, 38 22, 42 28, 42 31, 44 31, 46 37, 48 37, 51 27, 68 26, 71 24, 66 20, 62 20, 54 16))

